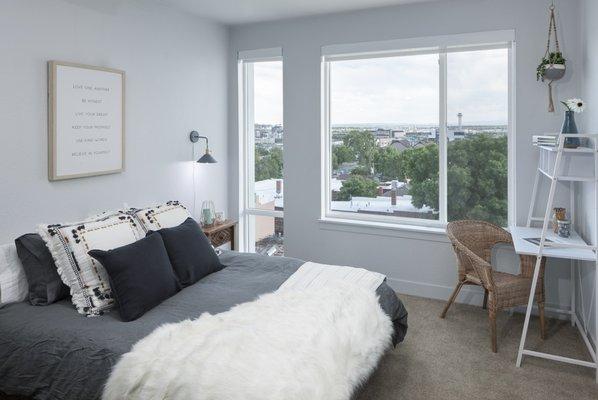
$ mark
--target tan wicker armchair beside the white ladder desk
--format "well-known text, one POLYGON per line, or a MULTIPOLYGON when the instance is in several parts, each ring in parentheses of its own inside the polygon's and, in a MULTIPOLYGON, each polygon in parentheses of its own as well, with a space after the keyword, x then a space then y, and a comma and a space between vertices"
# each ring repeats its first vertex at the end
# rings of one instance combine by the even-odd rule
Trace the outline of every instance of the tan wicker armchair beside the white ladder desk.
MULTIPOLYGON (((511 234, 499 226, 483 221, 455 221, 447 225, 447 234, 457 255, 459 281, 440 318, 446 316, 463 285, 484 288, 484 308, 488 308, 492 351, 496 353, 496 314, 499 310, 527 305, 536 263, 535 256, 520 256, 519 275, 492 269, 492 248, 498 243, 513 244, 511 234)), ((542 258, 535 301, 540 314, 540 335, 544 339, 544 266, 542 258)))

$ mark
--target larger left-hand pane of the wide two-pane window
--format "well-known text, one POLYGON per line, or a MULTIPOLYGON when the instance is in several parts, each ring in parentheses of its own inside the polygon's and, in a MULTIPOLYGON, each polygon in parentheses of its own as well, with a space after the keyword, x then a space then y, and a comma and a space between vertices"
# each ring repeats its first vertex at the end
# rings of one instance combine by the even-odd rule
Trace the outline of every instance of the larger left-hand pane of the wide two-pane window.
POLYGON ((330 63, 333 211, 438 219, 438 55, 330 63))

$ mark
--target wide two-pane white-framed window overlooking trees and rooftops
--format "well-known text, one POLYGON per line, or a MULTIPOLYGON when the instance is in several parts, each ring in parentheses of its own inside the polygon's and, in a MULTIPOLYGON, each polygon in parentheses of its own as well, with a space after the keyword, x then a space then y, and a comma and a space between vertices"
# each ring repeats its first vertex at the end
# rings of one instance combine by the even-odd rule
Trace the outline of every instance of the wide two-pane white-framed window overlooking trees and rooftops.
POLYGON ((323 49, 325 217, 508 224, 512 41, 434 39, 323 49))

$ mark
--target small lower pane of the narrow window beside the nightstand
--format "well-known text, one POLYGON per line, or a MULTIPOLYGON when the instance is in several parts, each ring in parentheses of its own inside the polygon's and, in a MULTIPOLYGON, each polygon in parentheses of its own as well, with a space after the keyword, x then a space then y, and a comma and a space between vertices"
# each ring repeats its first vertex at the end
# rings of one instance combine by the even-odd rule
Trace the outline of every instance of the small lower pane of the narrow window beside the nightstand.
POLYGON ((258 254, 268 256, 284 255, 284 224, 283 218, 252 215, 250 222, 252 249, 258 254))

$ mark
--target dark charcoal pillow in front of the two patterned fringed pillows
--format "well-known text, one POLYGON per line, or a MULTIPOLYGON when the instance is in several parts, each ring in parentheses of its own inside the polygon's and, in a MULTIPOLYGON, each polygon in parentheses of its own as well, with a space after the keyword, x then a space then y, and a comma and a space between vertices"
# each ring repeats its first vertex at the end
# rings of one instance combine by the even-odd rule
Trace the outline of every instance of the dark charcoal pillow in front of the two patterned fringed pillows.
POLYGON ((108 272, 123 321, 133 321, 181 290, 160 235, 116 249, 91 250, 108 272))

